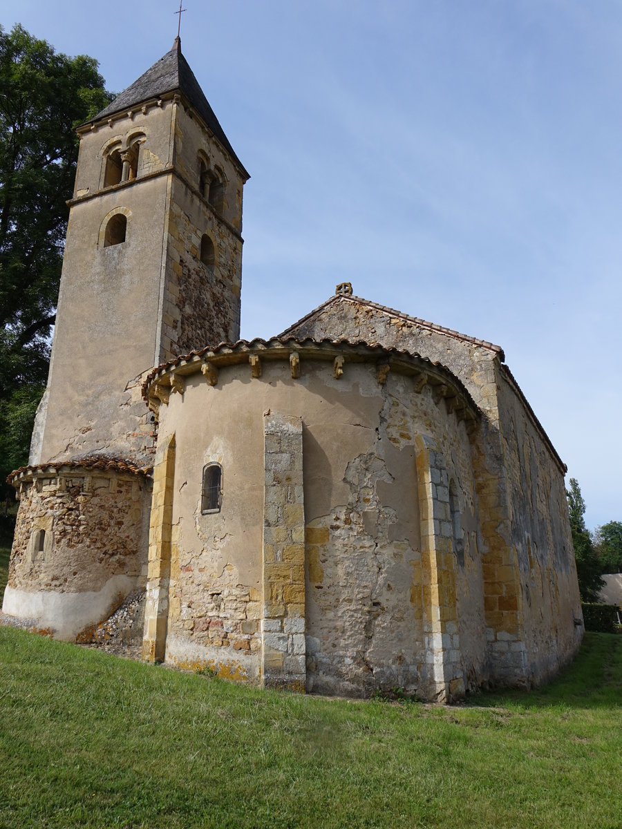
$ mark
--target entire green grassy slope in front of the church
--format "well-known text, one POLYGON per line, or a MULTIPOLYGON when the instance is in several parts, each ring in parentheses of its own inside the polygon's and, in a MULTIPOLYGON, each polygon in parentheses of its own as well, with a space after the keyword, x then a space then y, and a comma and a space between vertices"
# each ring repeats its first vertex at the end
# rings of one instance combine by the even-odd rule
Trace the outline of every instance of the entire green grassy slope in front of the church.
POLYGON ((622 637, 476 702, 265 692, 0 628, 0 827, 622 827, 622 637))

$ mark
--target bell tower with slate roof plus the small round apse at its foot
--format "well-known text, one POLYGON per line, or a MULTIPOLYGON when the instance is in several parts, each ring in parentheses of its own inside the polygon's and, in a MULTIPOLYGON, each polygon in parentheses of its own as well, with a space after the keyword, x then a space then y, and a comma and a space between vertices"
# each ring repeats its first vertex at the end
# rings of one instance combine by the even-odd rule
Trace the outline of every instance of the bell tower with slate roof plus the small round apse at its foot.
POLYGON ((146 582, 143 376, 239 337, 249 176, 178 37, 78 134, 48 385, 30 465, 10 477, 20 507, 2 610, 89 641, 146 582))

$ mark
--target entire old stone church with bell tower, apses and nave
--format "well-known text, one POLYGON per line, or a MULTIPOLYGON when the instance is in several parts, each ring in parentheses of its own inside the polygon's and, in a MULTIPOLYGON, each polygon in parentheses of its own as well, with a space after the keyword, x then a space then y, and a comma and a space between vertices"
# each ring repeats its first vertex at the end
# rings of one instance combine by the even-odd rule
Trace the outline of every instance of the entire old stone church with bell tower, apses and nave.
POLYGON ((131 605, 148 661, 344 696, 571 660, 566 467, 503 349, 348 283, 240 340, 249 174, 178 38, 78 133, 4 621, 88 642, 131 605))

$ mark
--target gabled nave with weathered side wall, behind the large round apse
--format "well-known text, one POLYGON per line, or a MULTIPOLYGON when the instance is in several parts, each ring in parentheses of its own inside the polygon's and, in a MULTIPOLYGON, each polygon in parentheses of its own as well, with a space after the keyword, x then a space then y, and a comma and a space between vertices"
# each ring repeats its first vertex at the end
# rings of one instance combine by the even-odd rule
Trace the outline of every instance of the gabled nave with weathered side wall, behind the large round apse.
MULTIPOLYGON (((576 651, 580 618, 563 475, 494 351, 355 300, 338 299, 296 336, 377 341, 440 361, 486 418, 473 446, 491 681, 530 684, 576 651)), ((462 613, 460 613, 461 615, 462 613)))

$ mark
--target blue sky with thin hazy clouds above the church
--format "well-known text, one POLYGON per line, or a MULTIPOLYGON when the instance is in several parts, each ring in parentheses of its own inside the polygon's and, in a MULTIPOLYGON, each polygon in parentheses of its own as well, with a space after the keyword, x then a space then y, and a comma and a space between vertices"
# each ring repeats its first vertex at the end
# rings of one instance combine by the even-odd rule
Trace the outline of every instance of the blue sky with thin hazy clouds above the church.
MULTIPOLYGON (((242 336, 338 282, 497 342, 579 480, 622 521, 622 3, 186 0, 182 50, 251 174, 242 336)), ((175 0, 0 0, 120 91, 175 0)))

